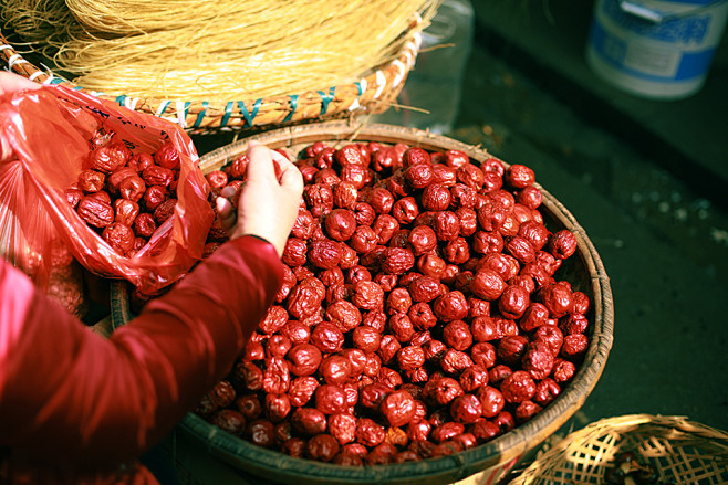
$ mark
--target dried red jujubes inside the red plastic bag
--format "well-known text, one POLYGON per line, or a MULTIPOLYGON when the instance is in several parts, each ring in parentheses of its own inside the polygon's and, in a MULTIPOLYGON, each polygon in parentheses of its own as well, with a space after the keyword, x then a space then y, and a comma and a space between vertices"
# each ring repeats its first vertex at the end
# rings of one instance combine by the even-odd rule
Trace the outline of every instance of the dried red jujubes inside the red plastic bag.
POLYGON ((123 141, 102 136, 93 143, 87 168, 65 196, 89 228, 131 257, 174 213, 179 164, 171 143, 155 152, 132 155, 123 141))

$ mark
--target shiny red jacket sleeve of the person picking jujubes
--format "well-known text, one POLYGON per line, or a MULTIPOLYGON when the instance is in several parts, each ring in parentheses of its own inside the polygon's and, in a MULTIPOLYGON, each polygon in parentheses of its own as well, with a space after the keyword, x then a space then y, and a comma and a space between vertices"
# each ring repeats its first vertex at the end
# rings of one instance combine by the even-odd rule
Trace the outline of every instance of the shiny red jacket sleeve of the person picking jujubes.
POLYGON ((106 340, 3 261, 0 483, 156 484, 136 457, 231 369, 281 282, 273 246, 239 238, 106 340))

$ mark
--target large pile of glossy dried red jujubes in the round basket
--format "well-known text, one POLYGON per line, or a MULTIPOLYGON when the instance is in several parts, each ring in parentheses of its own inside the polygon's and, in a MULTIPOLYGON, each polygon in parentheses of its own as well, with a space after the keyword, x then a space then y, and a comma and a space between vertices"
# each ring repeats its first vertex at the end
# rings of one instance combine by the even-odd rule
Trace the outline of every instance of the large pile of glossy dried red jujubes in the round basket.
MULTIPOLYGON (((554 280, 576 239, 543 224, 530 168, 378 143, 297 164, 285 282, 196 413, 292 456, 398 463, 485 443, 572 379, 590 301, 554 280)), ((207 173, 212 190, 246 165, 207 173)))

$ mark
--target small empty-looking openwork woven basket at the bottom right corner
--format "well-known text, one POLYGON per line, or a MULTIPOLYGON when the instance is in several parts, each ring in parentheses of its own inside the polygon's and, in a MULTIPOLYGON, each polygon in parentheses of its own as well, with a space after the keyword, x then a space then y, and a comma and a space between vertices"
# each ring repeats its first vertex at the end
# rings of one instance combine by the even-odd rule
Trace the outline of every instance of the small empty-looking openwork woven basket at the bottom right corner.
POLYGON ((625 451, 652 464, 662 483, 728 483, 728 433, 684 417, 631 414, 570 433, 510 485, 603 484, 606 470, 625 451))

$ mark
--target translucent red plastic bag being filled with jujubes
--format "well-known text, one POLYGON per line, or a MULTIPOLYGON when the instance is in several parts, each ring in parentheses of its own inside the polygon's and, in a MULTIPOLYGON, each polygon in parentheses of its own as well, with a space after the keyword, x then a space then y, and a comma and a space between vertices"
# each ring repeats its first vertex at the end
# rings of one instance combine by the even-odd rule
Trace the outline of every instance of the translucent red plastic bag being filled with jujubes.
POLYGON ((60 240, 89 271, 154 294, 201 257, 215 218, 191 139, 177 125, 63 86, 0 96, 0 136, 14 158, 0 162, 0 250, 41 287, 60 240), (175 213, 134 256, 114 251, 69 204, 64 191, 89 168, 92 140, 114 134, 133 154, 171 143, 180 154, 175 213))

